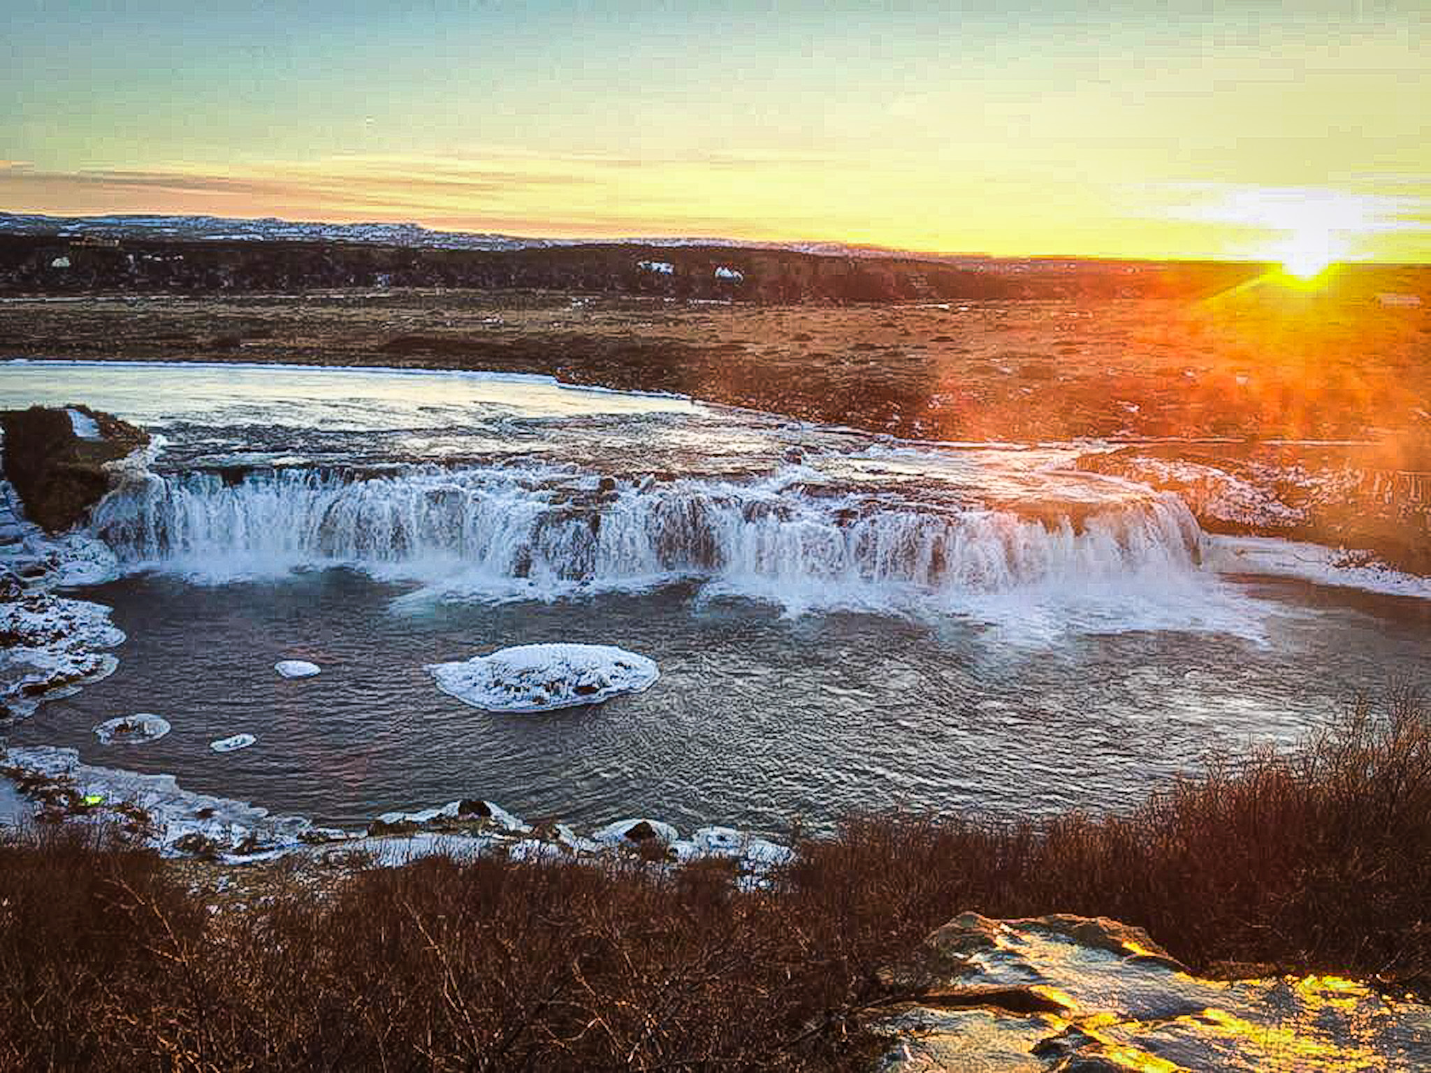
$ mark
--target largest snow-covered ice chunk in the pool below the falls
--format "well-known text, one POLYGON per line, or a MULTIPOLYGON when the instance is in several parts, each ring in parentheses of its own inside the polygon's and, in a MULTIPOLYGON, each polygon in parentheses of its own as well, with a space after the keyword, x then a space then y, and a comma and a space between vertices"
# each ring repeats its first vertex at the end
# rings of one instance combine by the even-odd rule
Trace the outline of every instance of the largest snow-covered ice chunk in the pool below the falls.
POLYGON ((655 661, 612 645, 518 645, 462 662, 428 664, 442 692, 487 711, 550 711, 641 692, 655 661))

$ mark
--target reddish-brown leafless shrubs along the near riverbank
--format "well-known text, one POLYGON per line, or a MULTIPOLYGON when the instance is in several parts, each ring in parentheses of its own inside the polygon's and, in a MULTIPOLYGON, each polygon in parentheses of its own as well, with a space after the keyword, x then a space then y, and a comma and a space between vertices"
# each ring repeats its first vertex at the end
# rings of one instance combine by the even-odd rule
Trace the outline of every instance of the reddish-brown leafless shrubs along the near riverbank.
POLYGON ((718 861, 424 860, 210 914, 153 854, 50 831, 0 846, 0 1067, 854 1069, 876 970, 966 908, 1427 993, 1428 720, 1357 705, 1119 817, 853 818, 756 893, 718 861))

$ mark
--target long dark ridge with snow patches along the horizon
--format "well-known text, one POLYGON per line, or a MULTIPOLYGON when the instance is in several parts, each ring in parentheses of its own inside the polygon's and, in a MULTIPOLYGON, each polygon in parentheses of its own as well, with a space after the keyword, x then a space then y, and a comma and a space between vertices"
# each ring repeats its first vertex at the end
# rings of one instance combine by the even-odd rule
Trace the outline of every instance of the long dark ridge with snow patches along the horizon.
MULTIPOLYGON (((259 293, 469 288, 685 300, 917 302, 1198 298, 1266 266, 1002 259, 837 243, 580 242, 409 223, 0 213, 0 293, 259 293)), ((1425 290, 1425 269, 1357 268, 1355 289, 1425 290)))

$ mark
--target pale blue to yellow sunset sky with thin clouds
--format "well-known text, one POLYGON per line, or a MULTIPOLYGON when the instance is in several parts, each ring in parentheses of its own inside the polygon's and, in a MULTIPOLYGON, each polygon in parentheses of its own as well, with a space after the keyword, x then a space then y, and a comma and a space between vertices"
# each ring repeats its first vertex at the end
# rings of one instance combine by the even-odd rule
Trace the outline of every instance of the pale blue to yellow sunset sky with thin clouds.
POLYGON ((4 0, 0 210, 1431 262, 1425 0, 4 0))

